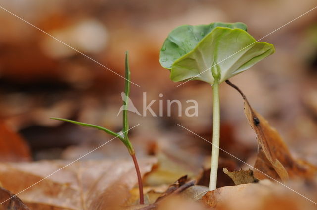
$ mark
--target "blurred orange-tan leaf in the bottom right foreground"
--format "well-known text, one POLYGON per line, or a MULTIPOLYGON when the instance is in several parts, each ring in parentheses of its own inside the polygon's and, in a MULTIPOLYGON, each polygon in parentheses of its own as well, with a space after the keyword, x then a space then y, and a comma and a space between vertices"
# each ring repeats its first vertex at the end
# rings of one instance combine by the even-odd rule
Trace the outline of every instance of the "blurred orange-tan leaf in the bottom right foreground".
MULTIPOLYGON (((316 188, 305 183, 287 183, 292 189, 316 201, 316 188), (303 192, 305 192, 303 194, 303 192)), ((276 182, 227 186, 209 191, 200 200, 217 210, 315 210, 316 204, 276 182)))

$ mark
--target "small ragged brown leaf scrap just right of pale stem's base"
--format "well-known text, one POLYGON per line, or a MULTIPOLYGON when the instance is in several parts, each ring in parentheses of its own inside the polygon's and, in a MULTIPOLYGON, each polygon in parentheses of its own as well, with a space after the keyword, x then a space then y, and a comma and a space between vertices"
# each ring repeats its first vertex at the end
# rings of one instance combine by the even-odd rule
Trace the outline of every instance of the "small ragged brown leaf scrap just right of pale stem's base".
POLYGON ((233 180, 235 185, 249 184, 249 183, 255 183, 259 181, 253 176, 253 171, 250 169, 248 170, 240 169, 239 171, 231 172, 227 168, 223 168, 223 172, 227 174, 233 180))

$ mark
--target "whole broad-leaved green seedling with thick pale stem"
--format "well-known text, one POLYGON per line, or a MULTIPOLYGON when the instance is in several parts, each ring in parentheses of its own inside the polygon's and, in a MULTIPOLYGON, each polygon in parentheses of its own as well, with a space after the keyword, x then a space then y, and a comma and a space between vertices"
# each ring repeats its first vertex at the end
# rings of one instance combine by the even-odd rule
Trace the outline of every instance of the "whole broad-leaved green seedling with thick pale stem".
POLYGON ((183 25, 171 31, 160 51, 159 62, 174 82, 201 80, 213 90, 213 128, 209 190, 216 189, 220 138, 219 84, 239 74, 275 48, 257 42, 244 23, 183 25))

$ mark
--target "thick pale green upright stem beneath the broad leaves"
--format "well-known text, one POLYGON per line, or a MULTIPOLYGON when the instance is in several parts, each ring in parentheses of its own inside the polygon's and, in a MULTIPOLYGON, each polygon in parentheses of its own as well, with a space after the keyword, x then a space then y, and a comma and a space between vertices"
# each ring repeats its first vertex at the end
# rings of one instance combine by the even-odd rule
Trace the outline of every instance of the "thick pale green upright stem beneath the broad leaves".
POLYGON ((219 100, 219 81, 215 78, 212 86, 213 91, 213 127, 212 127, 212 152, 209 190, 217 188, 217 172, 219 160, 219 139, 220 139, 220 100, 219 100))

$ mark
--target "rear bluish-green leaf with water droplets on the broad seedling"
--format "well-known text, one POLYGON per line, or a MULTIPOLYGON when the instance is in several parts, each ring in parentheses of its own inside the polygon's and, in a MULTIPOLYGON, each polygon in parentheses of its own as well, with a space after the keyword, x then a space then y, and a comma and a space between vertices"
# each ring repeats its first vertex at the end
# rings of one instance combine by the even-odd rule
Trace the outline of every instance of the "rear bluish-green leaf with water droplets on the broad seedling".
POLYGON ((192 51, 197 44, 216 27, 240 28, 247 31, 244 23, 210 23, 206 25, 182 25, 171 31, 160 51, 160 64, 171 69, 175 60, 192 51))

